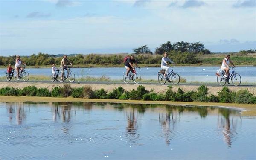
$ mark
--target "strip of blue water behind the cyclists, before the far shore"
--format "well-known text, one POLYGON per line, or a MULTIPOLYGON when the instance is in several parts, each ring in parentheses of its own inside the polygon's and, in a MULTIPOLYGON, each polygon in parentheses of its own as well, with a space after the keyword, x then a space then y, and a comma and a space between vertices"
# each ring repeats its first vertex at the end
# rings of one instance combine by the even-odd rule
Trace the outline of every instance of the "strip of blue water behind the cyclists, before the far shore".
MULTIPOLYGON (((175 67, 174 71, 179 73, 187 82, 216 82, 215 73, 219 67, 175 67)), ((28 68, 31 75, 51 75, 51 68, 28 68)), ((125 72, 124 67, 114 68, 72 68, 76 77, 94 76, 99 77, 102 75, 109 76, 111 79, 122 79, 125 72)), ((157 72, 160 67, 142 67, 139 70, 143 79, 157 80, 157 72)), ((256 82, 256 66, 255 67, 237 67, 236 72, 242 77, 244 82, 256 82)), ((0 76, 4 76, 6 69, 0 69, 0 76)))

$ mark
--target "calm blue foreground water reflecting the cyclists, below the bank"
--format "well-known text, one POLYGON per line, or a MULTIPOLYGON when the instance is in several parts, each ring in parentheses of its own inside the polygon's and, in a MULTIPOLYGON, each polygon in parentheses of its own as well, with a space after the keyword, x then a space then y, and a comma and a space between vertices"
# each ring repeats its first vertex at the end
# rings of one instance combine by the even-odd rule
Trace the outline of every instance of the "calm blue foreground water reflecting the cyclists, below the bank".
POLYGON ((256 119, 213 107, 0 103, 1 160, 253 160, 256 119))

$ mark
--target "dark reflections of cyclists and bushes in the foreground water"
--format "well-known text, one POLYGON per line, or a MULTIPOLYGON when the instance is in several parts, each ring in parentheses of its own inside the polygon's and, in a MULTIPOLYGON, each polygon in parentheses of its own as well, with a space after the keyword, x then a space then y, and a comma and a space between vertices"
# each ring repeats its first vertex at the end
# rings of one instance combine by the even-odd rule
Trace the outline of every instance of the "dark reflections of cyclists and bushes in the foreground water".
MULTIPOLYGON (((27 113, 30 112, 30 110, 26 110, 27 106, 24 104, 29 104, 28 106, 40 106, 40 104, 32 103, 6 103, 9 122, 12 123, 12 121, 14 121, 17 125, 23 124, 23 121, 27 117, 27 113)), ((126 124, 124 125, 125 127, 122 131, 125 132, 128 141, 131 143, 137 143, 140 139, 145 138, 141 136, 142 134, 145 134, 141 133, 141 128, 144 125, 142 121, 148 115, 147 113, 154 113, 151 116, 154 117, 153 119, 157 119, 157 123, 161 128, 160 135, 161 137, 163 137, 163 140, 165 141, 165 144, 167 146, 169 146, 172 143, 172 139, 177 137, 177 135, 175 135, 175 132, 180 130, 180 125, 177 124, 181 123, 183 119, 187 118, 187 116, 197 115, 199 118, 201 117, 201 119, 207 119, 207 116, 209 114, 215 114, 218 115, 216 121, 218 124, 218 129, 221 130, 221 135, 223 135, 224 143, 226 143, 228 147, 231 147, 233 143, 233 137, 237 135, 236 128, 239 121, 238 118, 233 118, 234 115, 237 115, 238 113, 235 110, 204 106, 172 106, 141 104, 131 105, 85 102, 45 103, 44 106, 51 106, 50 116, 52 118, 50 118, 50 120, 55 123, 61 122, 61 130, 64 134, 70 134, 70 130, 72 129, 73 125, 75 125, 74 122, 78 120, 76 118, 76 112, 82 112, 82 119, 89 121, 90 119, 88 119, 89 116, 87 115, 92 114, 93 111, 98 111, 97 114, 93 114, 93 116, 91 116, 93 117, 93 120, 88 122, 89 125, 91 123, 97 124, 95 121, 100 119, 100 117, 98 117, 99 113, 103 113, 105 111, 117 111, 115 113, 120 114, 120 112, 122 112, 124 113, 123 118, 126 124)), ((110 113, 113 116, 112 112, 110 113)), ((109 120, 112 119, 111 115, 102 116, 105 116, 105 118, 109 120)), ((102 120, 102 122, 104 122, 104 120, 102 120)))

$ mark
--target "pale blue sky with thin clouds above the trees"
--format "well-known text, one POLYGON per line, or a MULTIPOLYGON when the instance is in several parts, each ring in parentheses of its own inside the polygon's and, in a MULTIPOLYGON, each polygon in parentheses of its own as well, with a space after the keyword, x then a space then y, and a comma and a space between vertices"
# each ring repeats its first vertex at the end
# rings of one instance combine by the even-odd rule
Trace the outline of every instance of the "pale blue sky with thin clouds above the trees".
POLYGON ((256 48, 256 0, 1 0, 0 55, 119 53, 166 41, 256 48))

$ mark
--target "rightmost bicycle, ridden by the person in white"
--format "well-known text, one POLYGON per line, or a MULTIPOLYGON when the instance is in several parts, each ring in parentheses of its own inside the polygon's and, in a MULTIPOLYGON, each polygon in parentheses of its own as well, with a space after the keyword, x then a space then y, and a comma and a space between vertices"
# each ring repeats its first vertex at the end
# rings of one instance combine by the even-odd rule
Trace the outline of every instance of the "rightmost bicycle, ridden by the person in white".
MULTIPOLYGON (((229 67, 230 68, 230 67, 229 67)), ((234 86, 239 86, 241 84, 241 76, 234 71, 234 68, 236 67, 231 67, 232 68, 232 73, 229 77, 225 77, 225 72, 222 72, 222 76, 217 76, 217 82, 220 86, 224 86, 231 78, 232 84, 234 86)))

